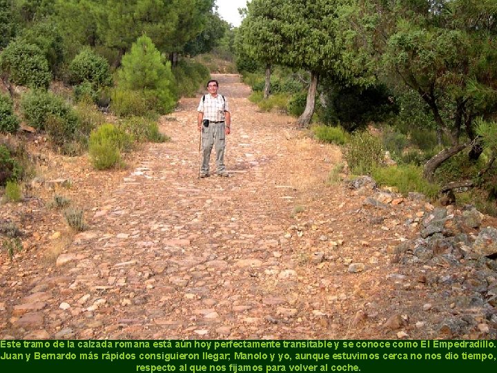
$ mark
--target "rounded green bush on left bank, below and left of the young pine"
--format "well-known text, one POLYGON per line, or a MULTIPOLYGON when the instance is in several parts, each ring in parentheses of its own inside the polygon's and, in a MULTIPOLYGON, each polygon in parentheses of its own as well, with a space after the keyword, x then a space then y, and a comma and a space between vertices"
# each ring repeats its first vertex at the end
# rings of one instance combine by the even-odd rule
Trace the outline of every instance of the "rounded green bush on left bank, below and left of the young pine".
POLYGON ((38 129, 45 129, 47 118, 60 117, 67 133, 74 133, 77 117, 72 108, 60 96, 44 90, 30 90, 21 98, 21 111, 26 122, 38 129))

